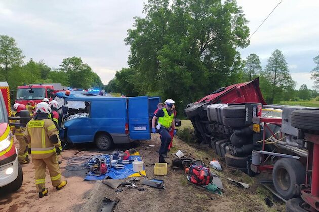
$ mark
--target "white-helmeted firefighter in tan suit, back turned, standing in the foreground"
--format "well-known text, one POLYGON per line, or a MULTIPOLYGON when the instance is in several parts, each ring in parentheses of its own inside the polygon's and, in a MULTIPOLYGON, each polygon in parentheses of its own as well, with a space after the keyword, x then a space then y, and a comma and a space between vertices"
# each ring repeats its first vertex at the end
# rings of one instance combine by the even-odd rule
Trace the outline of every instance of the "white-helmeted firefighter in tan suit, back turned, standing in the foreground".
POLYGON ((42 198, 48 194, 45 188, 46 167, 48 167, 52 185, 57 190, 63 188, 66 180, 61 180, 61 172, 56 154, 61 153, 61 141, 58 130, 48 115, 51 113, 49 104, 41 102, 36 105, 36 115, 28 122, 24 139, 31 143, 32 162, 35 167, 35 185, 42 198))

